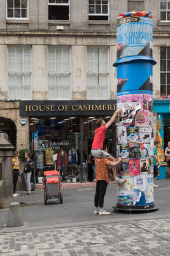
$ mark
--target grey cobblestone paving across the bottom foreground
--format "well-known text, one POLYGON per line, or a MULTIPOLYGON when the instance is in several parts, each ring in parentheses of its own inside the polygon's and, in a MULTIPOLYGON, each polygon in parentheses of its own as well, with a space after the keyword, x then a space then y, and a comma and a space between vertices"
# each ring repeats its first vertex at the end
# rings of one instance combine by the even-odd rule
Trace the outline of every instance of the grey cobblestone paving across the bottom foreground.
POLYGON ((0 234, 0 255, 170 255, 170 219, 0 234))

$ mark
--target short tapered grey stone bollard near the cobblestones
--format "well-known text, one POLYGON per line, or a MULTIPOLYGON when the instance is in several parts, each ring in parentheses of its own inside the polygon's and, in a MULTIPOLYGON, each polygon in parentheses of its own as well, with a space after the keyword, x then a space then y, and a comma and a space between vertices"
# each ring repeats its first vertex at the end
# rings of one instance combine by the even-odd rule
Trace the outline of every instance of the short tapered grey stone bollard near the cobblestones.
POLYGON ((22 214, 20 211, 20 203, 13 202, 10 204, 8 211, 8 221, 6 227, 20 227, 23 226, 22 214))

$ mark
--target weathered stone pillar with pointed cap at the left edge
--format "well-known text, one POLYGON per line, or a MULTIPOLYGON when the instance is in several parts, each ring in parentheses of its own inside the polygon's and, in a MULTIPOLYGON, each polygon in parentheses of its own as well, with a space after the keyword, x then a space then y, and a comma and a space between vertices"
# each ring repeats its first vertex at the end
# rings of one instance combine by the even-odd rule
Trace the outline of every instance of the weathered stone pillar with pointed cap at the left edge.
POLYGON ((0 136, 0 208, 13 202, 12 157, 14 147, 0 136))

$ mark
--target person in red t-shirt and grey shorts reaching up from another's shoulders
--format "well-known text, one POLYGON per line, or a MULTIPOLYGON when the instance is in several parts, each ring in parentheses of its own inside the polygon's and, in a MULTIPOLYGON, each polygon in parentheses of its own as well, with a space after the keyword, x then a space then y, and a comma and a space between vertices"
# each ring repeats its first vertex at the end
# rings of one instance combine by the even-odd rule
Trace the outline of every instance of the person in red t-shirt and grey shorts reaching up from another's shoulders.
MULTIPOLYGON (((92 143, 92 156, 97 157, 97 158, 107 158, 111 162, 117 161, 113 156, 111 156, 108 152, 104 152, 103 150, 103 141, 106 137, 106 129, 110 127, 111 124, 115 121, 116 116, 118 113, 120 113, 121 110, 117 109, 113 116, 111 116, 110 120, 106 123, 102 117, 98 118, 96 120, 96 130, 95 130, 95 135, 94 135, 94 140, 92 143)), ((113 177, 116 180, 117 183, 122 183, 125 180, 120 179, 117 177, 117 167, 112 166, 112 171, 113 171, 113 177)))

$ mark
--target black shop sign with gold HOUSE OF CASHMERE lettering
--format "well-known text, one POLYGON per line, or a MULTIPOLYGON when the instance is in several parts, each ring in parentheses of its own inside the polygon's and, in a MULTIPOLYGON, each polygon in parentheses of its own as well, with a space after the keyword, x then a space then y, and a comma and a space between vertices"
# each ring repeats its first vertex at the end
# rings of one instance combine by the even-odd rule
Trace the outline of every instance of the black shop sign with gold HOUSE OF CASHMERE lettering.
POLYGON ((20 116, 113 115, 117 100, 21 100, 20 116))

